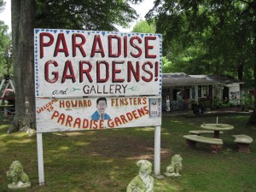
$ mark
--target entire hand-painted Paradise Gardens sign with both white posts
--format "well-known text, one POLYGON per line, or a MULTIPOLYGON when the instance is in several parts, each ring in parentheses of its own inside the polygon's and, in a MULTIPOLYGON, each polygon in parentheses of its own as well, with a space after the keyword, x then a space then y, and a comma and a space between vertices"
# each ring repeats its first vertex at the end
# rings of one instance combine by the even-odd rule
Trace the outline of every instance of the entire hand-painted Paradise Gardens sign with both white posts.
POLYGON ((39 184, 42 133, 155 126, 160 174, 160 34, 35 29, 39 184))

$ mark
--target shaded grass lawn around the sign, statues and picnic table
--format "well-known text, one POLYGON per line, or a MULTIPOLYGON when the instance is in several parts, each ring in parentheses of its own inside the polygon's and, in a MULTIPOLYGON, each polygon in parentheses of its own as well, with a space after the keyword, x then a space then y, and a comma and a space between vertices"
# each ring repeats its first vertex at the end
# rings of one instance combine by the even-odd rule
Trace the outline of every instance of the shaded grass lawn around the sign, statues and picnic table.
MULTIPOLYGON (((154 180, 154 192, 253 192, 256 191, 256 129, 244 125, 249 115, 218 115, 218 122, 234 125, 221 138, 224 146, 211 154, 210 145, 198 143, 187 148, 183 135, 201 130, 200 125, 215 123, 216 116, 172 117, 163 115, 161 163, 163 174, 172 155, 183 157, 181 177, 154 180), (233 134, 253 137, 251 153, 237 151, 233 134)), ((20 160, 32 187, 25 191, 44 192, 120 192, 126 191, 137 176, 137 160, 154 164, 154 128, 125 128, 104 131, 73 131, 43 134, 44 186, 38 185, 36 135, 7 134, 9 125, 0 125, 0 191, 9 191, 6 172, 20 160)), ((212 137, 208 135, 206 137, 212 137)), ((19 190, 22 191, 22 190, 19 190)))

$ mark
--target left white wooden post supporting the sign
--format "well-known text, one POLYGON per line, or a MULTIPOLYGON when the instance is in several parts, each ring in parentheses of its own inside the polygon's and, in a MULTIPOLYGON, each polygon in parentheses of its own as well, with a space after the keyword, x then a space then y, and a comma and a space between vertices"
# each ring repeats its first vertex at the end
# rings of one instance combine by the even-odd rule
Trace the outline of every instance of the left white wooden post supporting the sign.
POLYGON ((38 143, 38 177, 39 185, 44 185, 44 156, 43 156, 43 138, 42 133, 37 133, 38 143))

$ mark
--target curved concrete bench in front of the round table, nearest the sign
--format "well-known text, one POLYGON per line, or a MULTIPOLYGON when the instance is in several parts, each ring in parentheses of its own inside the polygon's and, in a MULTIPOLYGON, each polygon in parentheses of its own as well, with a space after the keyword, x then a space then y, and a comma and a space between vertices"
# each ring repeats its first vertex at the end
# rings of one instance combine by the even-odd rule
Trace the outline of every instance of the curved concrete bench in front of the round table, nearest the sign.
POLYGON ((186 135, 183 137, 186 139, 189 148, 195 148, 195 144, 198 142, 211 144, 212 154, 217 154, 219 146, 223 145, 222 139, 218 138, 201 137, 197 135, 186 135))

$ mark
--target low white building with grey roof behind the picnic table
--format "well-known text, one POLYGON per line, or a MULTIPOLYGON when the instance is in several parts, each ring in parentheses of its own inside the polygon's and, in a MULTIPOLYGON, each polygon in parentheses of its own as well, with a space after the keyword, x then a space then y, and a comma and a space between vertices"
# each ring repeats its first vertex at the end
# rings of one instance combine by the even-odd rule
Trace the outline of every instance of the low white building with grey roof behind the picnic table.
POLYGON ((187 75, 185 73, 163 73, 163 108, 169 96, 173 110, 187 110, 194 103, 213 107, 213 100, 239 104, 243 82, 227 76, 187 75))

